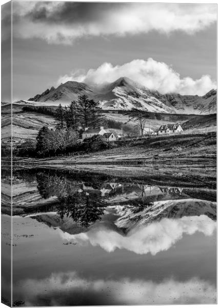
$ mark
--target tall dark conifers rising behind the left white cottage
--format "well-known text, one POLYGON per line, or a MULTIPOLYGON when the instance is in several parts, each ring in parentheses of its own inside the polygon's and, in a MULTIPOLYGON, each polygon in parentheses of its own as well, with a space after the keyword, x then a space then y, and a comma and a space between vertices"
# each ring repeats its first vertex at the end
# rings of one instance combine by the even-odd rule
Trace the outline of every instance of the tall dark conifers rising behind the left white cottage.
POLYGON ((81 95, 77 101, 72 101, 70 106, 56 109, 55 118, 59 128, 73 128, 75 131, 85 127, 97 128, 103 121, 99 103, 89 100, 87 95, 81 95))

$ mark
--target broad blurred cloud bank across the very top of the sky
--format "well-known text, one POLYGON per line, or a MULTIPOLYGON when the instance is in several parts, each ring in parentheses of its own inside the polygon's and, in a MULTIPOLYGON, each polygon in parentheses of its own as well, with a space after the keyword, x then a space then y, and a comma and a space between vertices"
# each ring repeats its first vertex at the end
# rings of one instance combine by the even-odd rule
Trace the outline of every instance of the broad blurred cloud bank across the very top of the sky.
POLYGON ((216 21, 216 5, 14 2, 13 33, 52 44, 88 36, 125 36, 157 31, 192 35, 216 21))

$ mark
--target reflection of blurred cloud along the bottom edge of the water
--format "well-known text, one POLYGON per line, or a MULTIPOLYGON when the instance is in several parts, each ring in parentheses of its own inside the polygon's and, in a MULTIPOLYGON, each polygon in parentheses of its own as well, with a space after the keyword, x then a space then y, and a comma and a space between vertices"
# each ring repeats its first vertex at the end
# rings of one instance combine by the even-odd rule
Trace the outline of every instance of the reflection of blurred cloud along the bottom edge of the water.
POLYGON ((14 300, 27 306, 105 304, 199 304, 215 303, 215 286, 192 278, 185 282, 167 279, 103 280, 79 277, 75 272, 52 274, 45 279, 27 279, 14 287, 14 300))

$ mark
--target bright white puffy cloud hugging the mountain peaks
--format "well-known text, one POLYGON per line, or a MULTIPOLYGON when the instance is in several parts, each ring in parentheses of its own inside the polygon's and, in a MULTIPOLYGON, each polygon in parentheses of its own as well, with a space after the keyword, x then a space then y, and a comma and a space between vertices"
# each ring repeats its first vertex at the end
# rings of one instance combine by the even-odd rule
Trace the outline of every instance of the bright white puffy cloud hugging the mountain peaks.
POLYGON ((103 82, 114 82, 122 76, 163 94, 175 92, 204 95, 212 88, 216 88, 216 82, 211 80, 209 75, 203 75, 197 80, 190 77, 181 78, 171 66, 164 62, 157 62, 152 58, 147 61, 133 60, 116 66, 111 63, 103 63, 98 68, 90 69, 87 72, 76 70, 69 75, 61 76, 57 84, 71 80, 88 84, 102 84, 103 82))

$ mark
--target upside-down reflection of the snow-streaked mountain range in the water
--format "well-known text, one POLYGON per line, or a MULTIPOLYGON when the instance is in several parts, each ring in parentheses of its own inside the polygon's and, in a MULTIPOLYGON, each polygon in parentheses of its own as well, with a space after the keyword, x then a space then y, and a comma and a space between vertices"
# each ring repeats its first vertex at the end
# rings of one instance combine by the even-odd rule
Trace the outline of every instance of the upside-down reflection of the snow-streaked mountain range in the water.
POLYGON ((179 219, 204 215, 212 221, 216 221, 216 203, 205 200, 157 201, 144 209, 136 206, 108 206, 104 208, 103 206, 97 207, 92 203, 89 209, 80 206, 78 212, 75 208, 72 212, 69 207, 69 211, 64 213, 63 208, 59 208, 57 212, 35 214, 30 217, 50 227, 59 227, 69 234, 87 232, 93 228, 95 222, 95 228, 102 226, 109 230, 116 230, 118 233, 127 234, 134 228, 140 228, 164 218, 179 219))

